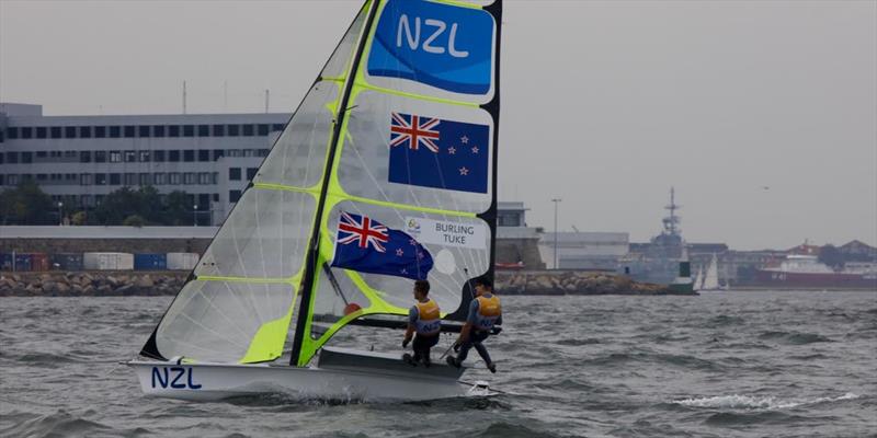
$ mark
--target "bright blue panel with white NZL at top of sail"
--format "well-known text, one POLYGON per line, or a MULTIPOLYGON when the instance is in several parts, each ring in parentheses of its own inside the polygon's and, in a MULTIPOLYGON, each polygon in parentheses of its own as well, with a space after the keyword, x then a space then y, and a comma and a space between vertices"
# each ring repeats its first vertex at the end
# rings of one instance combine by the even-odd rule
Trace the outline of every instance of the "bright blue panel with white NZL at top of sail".
POLYGON ((480 9, 390 0, 375 31, 368 74, 485 94, 493 71, 493 16, 480 9))

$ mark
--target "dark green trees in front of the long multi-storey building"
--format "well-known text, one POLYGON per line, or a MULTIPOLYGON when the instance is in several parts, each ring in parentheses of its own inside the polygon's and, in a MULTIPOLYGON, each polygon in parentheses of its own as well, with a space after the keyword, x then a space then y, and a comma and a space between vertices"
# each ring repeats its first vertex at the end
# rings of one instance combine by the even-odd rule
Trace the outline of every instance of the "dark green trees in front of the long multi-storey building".
POLYGON ((122 187, 88 210, 67 205, 58 208, 33 181, 0 192, 0 224, 58 224, 59 215, 76 226, 191 226, 193 220, 191 197, 185 192, 162 196, 152 186, 122 187))

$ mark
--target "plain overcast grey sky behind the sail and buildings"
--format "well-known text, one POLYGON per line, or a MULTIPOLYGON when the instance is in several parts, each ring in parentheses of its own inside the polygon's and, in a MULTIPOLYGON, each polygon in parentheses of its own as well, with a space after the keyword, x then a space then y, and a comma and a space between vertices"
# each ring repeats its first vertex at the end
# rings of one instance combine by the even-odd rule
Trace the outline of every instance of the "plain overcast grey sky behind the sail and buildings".
MULTIPOLYGON (((292 112, 358 0, 0 0, 0 101, 292 112), (225 91, 227 90, 227 91, 225 91)), ((501 200, 529 226, 877 244, 877 1, 506 0, 501 200)))

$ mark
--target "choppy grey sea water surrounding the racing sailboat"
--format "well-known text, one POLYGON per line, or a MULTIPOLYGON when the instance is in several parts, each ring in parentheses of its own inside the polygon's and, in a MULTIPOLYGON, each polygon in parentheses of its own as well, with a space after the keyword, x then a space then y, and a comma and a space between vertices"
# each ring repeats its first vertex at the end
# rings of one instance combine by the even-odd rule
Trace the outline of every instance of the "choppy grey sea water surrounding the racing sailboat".
MULTIPOLYGON (((506 394, 407 404, 145 397, 116 361, 169 300, 0 299, 0 436, 877 436, 873 292, 505 297, 500 371, 466 378, 506 394)), ((392 350, 401 336, 337 339, 392 350)))

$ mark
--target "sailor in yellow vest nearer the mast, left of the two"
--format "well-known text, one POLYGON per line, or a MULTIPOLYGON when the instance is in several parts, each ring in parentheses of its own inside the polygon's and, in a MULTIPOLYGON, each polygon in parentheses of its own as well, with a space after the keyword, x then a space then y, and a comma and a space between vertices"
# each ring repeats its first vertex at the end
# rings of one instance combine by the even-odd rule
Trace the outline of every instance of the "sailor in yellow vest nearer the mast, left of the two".
POLYGON ((425 280, 414 281, 414 306, 408 311, 408 331, 405 332, 402 348, 408 347, 411 337, 414 336, 414 344, 411 349, 414 356, 408 353, 402 355, 402 360, 417 366, 430 366, 430 349, 438 343, 438 334, 442 331, 442 318, 438 304, 430 297, 430 283, 425 280))

